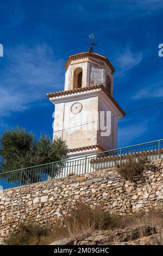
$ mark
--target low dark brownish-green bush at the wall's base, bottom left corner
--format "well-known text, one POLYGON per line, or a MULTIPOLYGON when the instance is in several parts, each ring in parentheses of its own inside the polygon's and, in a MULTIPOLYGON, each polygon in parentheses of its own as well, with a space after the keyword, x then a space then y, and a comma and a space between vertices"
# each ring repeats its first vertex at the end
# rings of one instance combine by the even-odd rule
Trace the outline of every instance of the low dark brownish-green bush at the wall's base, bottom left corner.
POLYGON ((37 223, 20 223, 16 231, 4 240, 6 245, 40 245, 50 231, 37 223))

